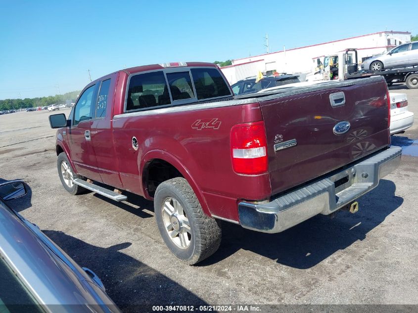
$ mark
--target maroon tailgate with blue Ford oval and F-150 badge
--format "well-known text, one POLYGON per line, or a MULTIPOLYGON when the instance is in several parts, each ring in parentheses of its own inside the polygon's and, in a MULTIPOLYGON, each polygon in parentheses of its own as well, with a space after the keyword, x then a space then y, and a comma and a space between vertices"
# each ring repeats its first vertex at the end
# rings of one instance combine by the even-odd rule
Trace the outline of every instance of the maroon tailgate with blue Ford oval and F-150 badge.
POLYGON ((259 98, 272 194, 387 146, 386 90, 385 81, 373 77, 292 88, 259 98))

